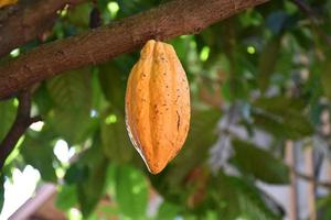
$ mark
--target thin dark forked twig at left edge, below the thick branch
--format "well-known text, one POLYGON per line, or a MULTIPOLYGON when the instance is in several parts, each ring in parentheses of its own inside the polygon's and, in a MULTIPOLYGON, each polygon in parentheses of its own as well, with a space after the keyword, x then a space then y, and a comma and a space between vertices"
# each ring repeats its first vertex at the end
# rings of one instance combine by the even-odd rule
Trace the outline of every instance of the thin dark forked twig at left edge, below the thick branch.
POLYGON ((34 122, 41 121, 41 117, 31 117, 31 94, 30 91, 22 91, 19 97, 19 107, 17 118, 10 128, 9 132, 0 143, 0 169, 4 165, 7 157, 15 147, 20 138, 24 134, 26 129, 34 122))

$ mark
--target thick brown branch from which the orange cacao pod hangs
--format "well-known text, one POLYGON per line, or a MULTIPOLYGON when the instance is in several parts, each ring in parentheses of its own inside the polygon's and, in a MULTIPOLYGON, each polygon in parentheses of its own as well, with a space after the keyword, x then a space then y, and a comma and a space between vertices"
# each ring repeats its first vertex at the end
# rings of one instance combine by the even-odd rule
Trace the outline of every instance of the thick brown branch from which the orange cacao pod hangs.
POLYGON ((267 0, 174 0, 110 25, 44 44, 0 67, 0 99, 62 72, 131 52, 147 40, 193 34, 267 0))

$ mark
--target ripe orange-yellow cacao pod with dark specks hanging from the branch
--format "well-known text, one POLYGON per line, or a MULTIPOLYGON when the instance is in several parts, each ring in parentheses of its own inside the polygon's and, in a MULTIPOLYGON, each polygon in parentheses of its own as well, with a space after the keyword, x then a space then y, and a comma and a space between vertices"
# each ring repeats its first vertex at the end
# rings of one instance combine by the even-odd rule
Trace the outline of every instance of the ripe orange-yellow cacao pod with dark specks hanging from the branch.
POLYGON ((189 82, 175 51, 148 41, 128 79, 126 124, 150 173, 160 173, 181 150, 190 111, 189 82))

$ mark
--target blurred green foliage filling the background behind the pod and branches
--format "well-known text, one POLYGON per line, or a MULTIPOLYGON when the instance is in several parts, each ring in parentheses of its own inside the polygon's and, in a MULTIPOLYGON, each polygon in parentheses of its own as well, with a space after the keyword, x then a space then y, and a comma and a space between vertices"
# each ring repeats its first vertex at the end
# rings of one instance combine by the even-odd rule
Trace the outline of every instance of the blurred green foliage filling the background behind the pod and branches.
MULTIPOLYGON (((109 24, 164 2, 98 0, 97 7, 103 23, 109 24)), ((305 2, 318 18, 292 1, 270 1, 196 35, 169 41, 190 80, 192 121, 183 150, 156 176, 148 173, 125 125, 126 81, 138 51, 41 82, 32 110, 44 125, 41 131, 31 128, 7 161, 0 206, 3 180, 14 167, 29 164, 40 172, 41 182, 60 183, 57 207, 79 208, 84 219, 281 219, 284 210, 275 208, 277 202, 256 182, 288 184, 285 141, 319 134, 322 110, 331 109, 331 2, 305 2), (227 118, 234 110, 238 120, 227 118), (220 129, 220 121, 244 127, 247 136, 220 129), (256 131, 274 141, 258 145, 256 131), (232 153, 217 167, 210 157, 222 157, 217 139, 226 135, 232 153), (75 152, 70 162, 55 155, 58 140, 75 152), (150 213, 156 194, 162 201, 150 213)), ((87 31, 93 7, 87 2, 60 12, 46 42, 87 31)), ((41 43, 33 41, 20 51, 41 43)), ((17 106, 15 99, 0 102, 1 140, 17 106)), ((331 218, 330 201, 319 200, 321 219, 331 218)))

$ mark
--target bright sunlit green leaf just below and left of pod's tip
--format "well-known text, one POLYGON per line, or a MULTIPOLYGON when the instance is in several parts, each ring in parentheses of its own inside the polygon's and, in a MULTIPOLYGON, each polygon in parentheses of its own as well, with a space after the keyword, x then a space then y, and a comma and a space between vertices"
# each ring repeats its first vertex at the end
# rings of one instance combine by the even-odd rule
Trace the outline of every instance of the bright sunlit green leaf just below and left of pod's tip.
POLYGON ((146 177, 130 166, 118 166, 115 175, 116 201, 121 213, 134 219, 145 219, 148 204, 146 177))

